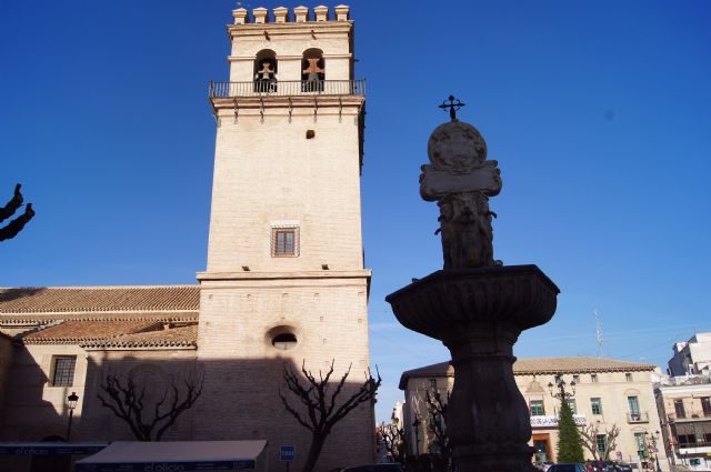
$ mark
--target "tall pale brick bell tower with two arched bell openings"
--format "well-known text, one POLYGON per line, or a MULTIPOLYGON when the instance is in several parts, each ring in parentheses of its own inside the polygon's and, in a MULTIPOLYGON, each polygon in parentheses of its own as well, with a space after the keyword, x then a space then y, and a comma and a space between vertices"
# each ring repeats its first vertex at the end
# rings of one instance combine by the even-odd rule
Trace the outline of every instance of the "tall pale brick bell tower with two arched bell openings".
MULTIPOLYGON (((270 461, 293 444, 296 470, 310 433, 281 404, 284 363, 318 374, 333 362, 337 380, 351 365, 349 388, 369 366, 364 81, 353 79, 346 6, 232 16, 230 78, 210 84, 217 142, 208 265, 198 273, 206 380, 194 439, 267 439, 270 461)), ((317 470, 371 462, 373 429, 371 404, 353 411, 317 470)))

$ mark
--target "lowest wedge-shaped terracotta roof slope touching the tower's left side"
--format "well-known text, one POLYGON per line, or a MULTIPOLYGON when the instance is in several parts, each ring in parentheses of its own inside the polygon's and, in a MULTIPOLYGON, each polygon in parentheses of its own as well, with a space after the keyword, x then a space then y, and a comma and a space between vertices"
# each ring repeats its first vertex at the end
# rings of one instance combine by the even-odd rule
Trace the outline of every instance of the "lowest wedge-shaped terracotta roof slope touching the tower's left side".
POLYGON ((198 325, 189 324, 160 331, 126 334, 118 338, 82 342, 80 345, 88 349, 197 347, 198 325))

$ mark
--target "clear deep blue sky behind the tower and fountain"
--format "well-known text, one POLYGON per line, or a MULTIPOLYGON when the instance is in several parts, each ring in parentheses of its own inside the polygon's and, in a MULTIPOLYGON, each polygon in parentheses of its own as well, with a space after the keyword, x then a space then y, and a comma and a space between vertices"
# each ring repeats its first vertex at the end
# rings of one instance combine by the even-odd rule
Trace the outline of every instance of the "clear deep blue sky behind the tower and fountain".
MULTIPOLYGON (((277 7, 276 2, 252 2, 277 7)), ((296 4, 288 4, 294 7, 296 4)), ((310 6, 313 6, 310 3, 310 6)), ((0 198, 37 218, 0 244, 0 285, 194 283, 236 2, 0 4, 0 198), (4 195, 4 197, 2 197, 4 195)), ((447 359, 384 297, 441 267, 425 143, 454 93, 499 160, 495 257, 562 290, 519 356, 605 354, 665 366, 711 330, 711 2, 351 3, 368 79, 363 231, 371 358, 385 420, 403 370, 447 359)))

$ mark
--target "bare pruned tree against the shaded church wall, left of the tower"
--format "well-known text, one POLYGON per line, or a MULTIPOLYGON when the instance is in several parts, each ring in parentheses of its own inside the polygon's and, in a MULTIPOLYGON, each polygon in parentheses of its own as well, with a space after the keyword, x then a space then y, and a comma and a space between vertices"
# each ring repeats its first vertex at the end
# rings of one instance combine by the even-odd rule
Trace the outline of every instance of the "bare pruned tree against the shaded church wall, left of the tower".
MULTIPOLYGON (((156 401, 146 399, 146 383, 139 385, 132 375, 121 380, 117 374, 108 374, 100 385, 99 400, 118 418, 123 420, 139 441, 160 441, 163 433, 186 410, 192 408, 202 393, 204 376, 186 379, 184 396, 178 383, 171 379, 156 401)), ((156 385, 149 386, 151 391, 156 385)))

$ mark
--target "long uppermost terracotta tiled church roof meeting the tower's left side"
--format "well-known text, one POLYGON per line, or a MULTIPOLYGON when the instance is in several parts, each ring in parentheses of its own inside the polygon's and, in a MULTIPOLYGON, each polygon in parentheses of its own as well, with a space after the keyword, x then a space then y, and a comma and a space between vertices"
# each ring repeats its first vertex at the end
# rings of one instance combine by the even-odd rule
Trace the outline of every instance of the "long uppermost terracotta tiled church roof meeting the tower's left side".
POLYGON ((0 288, 0 315, 198 311, 199 308, 199 285, 0 288))

